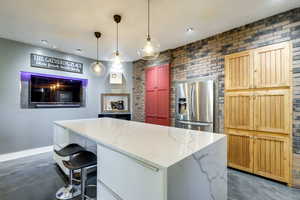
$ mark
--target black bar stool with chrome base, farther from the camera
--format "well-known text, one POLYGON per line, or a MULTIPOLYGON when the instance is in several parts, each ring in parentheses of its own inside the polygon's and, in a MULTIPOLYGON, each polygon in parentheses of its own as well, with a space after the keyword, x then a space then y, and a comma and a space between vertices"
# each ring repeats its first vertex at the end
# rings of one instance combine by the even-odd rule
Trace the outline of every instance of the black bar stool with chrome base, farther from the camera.
MULTIPOLYGON (((62 148, 61 150, 57 151, 54 150, 54 152, 61 156, 61 157, 70 157, 70 160, 72 159, 72 157, 76 154, 78 154, 79 152, 85 151, 85 149, 78 145, 78 144, 69 144, 67 146, 65 146, 64 148, 62 148)), ((57 192, 56 192, 56 198, 59 200, 66 200, 66 199, 71 199, 75 196, 80 195, 80 188, 76 188, 73 185, 73 170, 69 170, 69 184, 65 187, 60 188, 57 192)))

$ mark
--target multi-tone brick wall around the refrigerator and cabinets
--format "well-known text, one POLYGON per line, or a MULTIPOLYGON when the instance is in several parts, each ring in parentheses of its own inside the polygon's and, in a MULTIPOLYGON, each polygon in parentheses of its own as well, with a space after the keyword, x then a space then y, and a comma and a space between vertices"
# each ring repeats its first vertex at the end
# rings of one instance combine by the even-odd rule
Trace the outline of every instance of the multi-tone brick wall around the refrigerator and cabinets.
POLYGON ((224 130, 224 56, 261 46, 291 41, 293 44, 293 152, 294 185, 300 187, 300 8, 162 52, 155 61, 134 62, 133 120, 144 121, 146 67, 171 64, 171 118, 174 123, 174 81, 206 76, 218 80, 218 132, 224 130))

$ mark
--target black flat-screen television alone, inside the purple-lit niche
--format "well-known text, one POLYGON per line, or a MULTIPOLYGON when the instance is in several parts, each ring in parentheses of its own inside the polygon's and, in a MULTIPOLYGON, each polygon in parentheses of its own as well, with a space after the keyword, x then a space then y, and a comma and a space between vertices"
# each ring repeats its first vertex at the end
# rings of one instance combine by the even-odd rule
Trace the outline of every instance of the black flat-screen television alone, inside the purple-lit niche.
POLYGON ((82 105, 83 82, 31 75, 29 104, 34 107, 80 107, 82 105))

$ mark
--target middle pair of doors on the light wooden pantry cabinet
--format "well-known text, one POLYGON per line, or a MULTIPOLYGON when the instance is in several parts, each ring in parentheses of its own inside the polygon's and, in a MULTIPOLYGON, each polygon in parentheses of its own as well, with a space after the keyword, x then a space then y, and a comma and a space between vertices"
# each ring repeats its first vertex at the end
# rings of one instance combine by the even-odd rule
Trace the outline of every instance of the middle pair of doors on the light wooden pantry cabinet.
POLYGON ((290 133, 290 93, 287 89, 225 93, 225 127, 290 133))

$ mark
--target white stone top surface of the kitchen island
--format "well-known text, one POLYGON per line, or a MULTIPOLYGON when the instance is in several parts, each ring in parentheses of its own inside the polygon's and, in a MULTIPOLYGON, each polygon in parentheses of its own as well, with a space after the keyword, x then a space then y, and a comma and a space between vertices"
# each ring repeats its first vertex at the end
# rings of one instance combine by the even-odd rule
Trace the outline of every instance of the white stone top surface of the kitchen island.
POLYGON ((54 123, 97 144, 158 168, 168 168, 193 153, 226 139, 223 134, 113 118, 78 119, 54 123))

